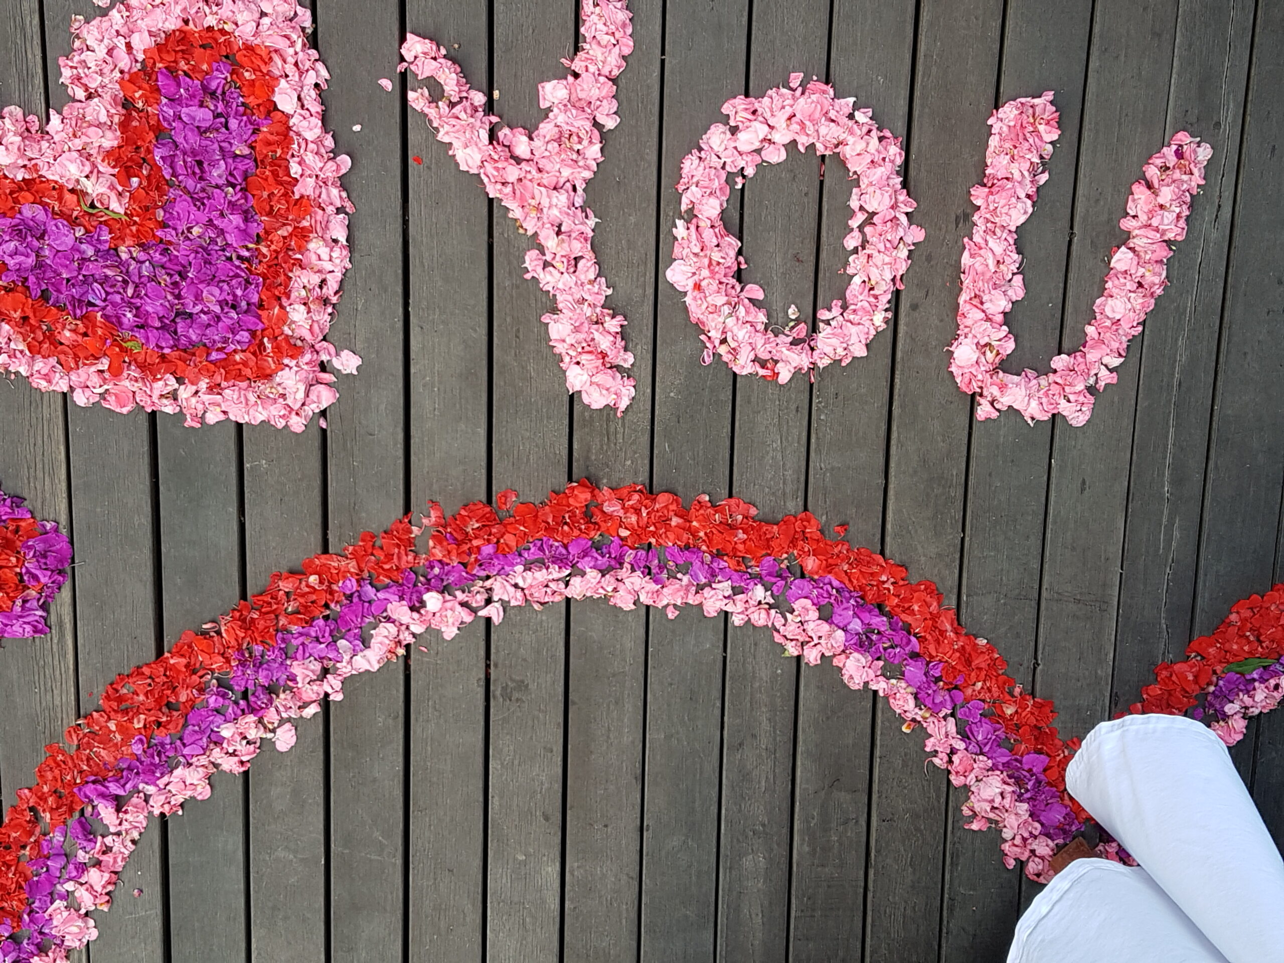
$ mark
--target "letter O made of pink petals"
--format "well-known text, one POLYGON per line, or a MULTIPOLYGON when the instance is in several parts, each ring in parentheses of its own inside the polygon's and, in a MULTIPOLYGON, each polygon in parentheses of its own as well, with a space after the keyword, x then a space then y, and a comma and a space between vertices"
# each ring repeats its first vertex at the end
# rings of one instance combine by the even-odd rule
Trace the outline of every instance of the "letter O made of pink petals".
POLYGON ((892 293, 901 288, 909 253, 923 230, 909 223, 914 202, 898 173, 904 152, 890 131, 878 130, 868 110, 854 110, 853 98, 838 99, 833 87, 802 74, 790 76, 787 87, 761 98, 733 98, 723 105, 729 125, 715 123, 700 148, 682 162, 683 212, 673 234, 674 262, 665 276, 686 295, 692 322, 705 343, 702 361, 714 354, 738 375, 787 381, 797 371, 846 365, 864 357, 869 340, 887 325, 892 293), (845 268, 851 276, 846 300, 817 312, 818 330, 808 336, 805 322, 783 334, 768 329, 767 312, 755 304, 763 289, 741 285, 745 267, 740 240, 723 225, 731 196, 727 175, 740 172, 737 186, 752 177, 759 163, 776 164, 785 149, 815 148, 819 157, 837 154, 858 185, 851 191, 851 232, 844 245, 853 252, 845 268))

